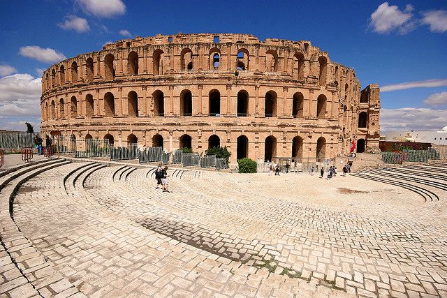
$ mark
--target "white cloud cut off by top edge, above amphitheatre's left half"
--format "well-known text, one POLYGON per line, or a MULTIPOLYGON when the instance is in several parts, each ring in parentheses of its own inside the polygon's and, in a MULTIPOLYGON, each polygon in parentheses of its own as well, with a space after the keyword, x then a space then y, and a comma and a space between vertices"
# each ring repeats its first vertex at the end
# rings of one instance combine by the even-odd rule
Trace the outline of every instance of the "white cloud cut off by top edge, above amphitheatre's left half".
POLYGON ((96 17, 114 17, 124 15, 126 5, 121 0, 75 0, 85 11, 96 17))

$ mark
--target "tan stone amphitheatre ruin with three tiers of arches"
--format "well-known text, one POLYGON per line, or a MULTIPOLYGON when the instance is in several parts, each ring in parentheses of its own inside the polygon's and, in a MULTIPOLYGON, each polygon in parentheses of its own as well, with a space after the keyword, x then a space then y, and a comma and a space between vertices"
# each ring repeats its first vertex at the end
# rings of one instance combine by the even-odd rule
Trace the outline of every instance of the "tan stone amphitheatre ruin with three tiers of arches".
POLYGON ((379 145, 379 87, 360 90, 353 69, 307 40, 136 37, 55 64, 42 84, 42 131, 76 140, 199 153, 220 144, 233 162, 379 145))

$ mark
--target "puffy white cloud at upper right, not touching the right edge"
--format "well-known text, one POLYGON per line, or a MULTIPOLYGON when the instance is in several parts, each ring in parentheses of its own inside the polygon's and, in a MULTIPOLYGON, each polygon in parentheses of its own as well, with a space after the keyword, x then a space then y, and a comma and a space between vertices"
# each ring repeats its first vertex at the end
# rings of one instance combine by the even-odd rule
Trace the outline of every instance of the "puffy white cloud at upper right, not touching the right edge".
POLYGON ((413 6, 407 4, 403 11, 397 6, 389 6, 388 2, 383 2, 371 14, 369 26, 377 33, 389 33, 398 30, 405 34, 416 28, 416 22, 413 20, 413 6))

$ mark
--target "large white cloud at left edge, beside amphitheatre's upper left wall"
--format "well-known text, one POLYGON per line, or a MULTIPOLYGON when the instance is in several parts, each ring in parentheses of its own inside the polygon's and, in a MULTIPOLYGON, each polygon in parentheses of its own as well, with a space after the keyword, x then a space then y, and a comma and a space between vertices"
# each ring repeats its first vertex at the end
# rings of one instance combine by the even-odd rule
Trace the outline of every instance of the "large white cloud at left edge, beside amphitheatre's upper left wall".
POLYGON ((0 103, 14 103, 20 100, 36 100, 39 106, 42 80, 27 73, 16 73, 0 78, 0 103))

